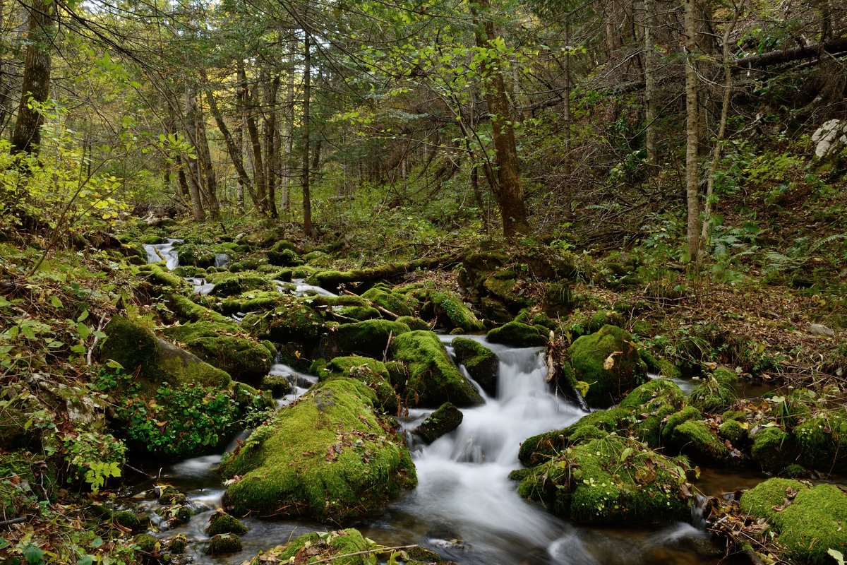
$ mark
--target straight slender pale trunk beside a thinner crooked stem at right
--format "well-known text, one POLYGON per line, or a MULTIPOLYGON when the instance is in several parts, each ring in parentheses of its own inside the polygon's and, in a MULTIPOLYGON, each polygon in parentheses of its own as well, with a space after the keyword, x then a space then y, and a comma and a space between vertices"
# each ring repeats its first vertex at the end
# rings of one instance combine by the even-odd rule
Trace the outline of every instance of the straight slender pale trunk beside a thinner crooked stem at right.
POLYGON ((697 19, 695 0, 685 4, 685 195, 688 200, 689 261, 697 260, 700 250, 700 190, 697 174, 700 108, 697 103, 697 19))

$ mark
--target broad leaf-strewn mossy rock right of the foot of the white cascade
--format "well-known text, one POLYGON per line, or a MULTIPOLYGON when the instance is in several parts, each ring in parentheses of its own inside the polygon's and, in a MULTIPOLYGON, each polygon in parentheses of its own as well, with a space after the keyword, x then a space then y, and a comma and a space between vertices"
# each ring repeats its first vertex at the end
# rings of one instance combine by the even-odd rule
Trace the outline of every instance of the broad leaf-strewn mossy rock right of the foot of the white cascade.
POLYGON ((683 459, 609 435, 534 468, 518 494, 577 524, 667 523, 689 519, 689 501, 678 489, 686 469, 683 459))

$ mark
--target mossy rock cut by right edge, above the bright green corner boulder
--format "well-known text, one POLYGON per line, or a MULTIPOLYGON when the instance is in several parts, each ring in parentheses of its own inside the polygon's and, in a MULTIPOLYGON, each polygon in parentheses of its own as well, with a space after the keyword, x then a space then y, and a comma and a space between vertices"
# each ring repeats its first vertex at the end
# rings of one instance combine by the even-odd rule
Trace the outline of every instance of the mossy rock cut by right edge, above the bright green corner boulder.
POLYGON ((792 434, 801 464, 826 472, 847 468, 847 410, 806 418, 792 434))

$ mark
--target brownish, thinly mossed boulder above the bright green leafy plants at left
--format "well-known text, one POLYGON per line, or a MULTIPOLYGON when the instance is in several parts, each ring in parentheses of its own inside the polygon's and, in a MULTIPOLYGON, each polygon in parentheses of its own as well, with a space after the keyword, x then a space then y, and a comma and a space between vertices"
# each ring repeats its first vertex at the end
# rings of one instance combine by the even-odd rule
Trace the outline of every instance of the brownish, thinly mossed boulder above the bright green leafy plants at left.
POLYGON ((107 338, 101 342, 101 359, 113 359, 124 367, 126 374, 136 374, 141 388, 154 392, 158 385, 203 385, 225 389, 230 385, 230 375, 203 362, 167 341, 158 339, 151 330, 115 316, 103 332, 107 338))

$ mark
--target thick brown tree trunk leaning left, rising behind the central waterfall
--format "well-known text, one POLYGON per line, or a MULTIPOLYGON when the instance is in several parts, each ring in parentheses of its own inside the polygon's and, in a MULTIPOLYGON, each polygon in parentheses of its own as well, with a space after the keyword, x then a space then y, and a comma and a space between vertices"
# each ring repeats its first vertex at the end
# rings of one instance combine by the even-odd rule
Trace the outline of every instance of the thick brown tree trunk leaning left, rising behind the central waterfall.
MULTIPOLYGON (((479 8, 479 12, 476 8, 472 8, 474 12, 477 12, 474 14, 476 44, 480 49, 490 49, 497 38, 494 22, 488 14, 490 0, 479 0, 479 8)), ((491 136, 494 138, 495 162, 497 163, 497 182, 492 188, 503 220, 503 235, 513 237, 529 233, 529 223, 518 176, 518 148, 512 126, 512 110, 509 108, 501 64, 501 58, 495 55, 484 66, 482 75, 485 101, 488 103, 488 111, 491 115, 491 136)))

